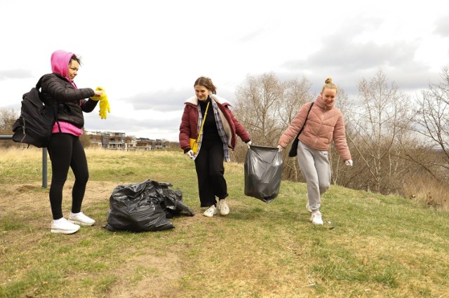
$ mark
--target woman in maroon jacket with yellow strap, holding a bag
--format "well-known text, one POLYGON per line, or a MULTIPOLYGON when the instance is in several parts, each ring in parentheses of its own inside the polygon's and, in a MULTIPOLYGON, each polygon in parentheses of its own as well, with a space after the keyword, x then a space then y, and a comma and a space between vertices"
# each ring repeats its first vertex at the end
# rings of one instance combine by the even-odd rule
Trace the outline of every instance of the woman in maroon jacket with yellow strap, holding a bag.
POLYGON ((180 125, 180 147, 195 161, 199 200, 201 207, 208 208, 203 215, 213 217, 217 209, 220 215, 228 215, 223 160, 230 161, 229 148, 234 149, 236 146, 236 135, 248 147, 251 144, 250 136, 229 109, 231 104, 215 95, 216 87, 209 78, 201 76, 196 79, 194 89, 195 96, 185 101, 180 125), (198 137, 198 151, 194 154, 189 140, 198 137), (219 199, 218 206, 215 197, 219 199))

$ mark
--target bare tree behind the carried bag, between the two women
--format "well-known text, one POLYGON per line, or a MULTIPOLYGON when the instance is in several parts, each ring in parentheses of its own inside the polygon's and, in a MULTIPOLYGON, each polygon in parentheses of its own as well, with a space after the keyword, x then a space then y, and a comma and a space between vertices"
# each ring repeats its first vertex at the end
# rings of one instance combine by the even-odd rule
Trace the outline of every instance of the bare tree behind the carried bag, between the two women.
MULTIPOLYGON (((234 113, 250 133, 254 144, 276 147, 279 137, 300 107, 313 99, 309 88, 307 79, 279 81, 273 73, 248 76, 246 83, 237 88, 234 113)), ((243 161, 243 152, 243 149, 236 149, 234 156, 237 161, 243 161)), ((297 161, 288 158, 287 152, 283 152, 283 175, 297 181, 297 161)))

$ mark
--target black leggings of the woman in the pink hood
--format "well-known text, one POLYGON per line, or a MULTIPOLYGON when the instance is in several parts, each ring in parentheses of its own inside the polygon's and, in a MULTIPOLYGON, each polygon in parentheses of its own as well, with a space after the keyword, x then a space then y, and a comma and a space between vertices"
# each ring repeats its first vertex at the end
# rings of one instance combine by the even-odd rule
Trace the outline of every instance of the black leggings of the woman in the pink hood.
POLYGON ((89 170, 79 137, 67 133, 53 133, 47 149, 51 159, 50 205, 53 219, 63 217, 62 189, 67 180, 69 167, 72 168, 75 176, 72 189, 72 212, 81 212, 89 170))

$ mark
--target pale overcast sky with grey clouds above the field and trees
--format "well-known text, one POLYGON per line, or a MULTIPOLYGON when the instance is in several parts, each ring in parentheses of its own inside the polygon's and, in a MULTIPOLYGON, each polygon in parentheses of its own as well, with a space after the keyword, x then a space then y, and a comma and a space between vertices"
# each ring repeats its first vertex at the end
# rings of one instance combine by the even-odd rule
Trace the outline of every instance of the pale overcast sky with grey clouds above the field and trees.
POLYGON ((248 75, 306 78, 311 93, 331 77, 351 97, 382 69, 413 95, 449 67, 446 0, 0 0, 0 28, 0 109, 20 111, 62 49, 81 56, 76 85, 109 99, 86 130, 175 142, 199 76, 234 103, 248 75))

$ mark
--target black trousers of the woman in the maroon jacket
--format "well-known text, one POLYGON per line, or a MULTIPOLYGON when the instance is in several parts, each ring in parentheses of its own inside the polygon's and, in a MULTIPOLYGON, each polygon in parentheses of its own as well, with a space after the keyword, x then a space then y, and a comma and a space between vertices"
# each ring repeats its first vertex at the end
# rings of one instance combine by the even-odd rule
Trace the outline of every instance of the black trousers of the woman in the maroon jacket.
POLYGON ((224 158, 225 152, 221 141, 201 144, 199 154, 195 158, 201 207, 209 207, 217 203, 215 196, 220 199, 228 196, 224 177, 224 158))

